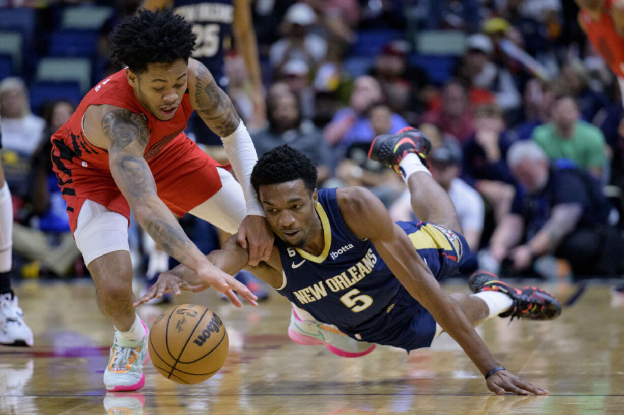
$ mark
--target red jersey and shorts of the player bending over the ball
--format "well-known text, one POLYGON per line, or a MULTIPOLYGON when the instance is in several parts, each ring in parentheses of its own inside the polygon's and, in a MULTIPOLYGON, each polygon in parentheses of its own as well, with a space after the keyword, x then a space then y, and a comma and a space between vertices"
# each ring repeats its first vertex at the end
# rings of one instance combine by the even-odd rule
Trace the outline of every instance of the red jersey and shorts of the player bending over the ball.
POLYGON ((173 213, 182 216, 221 188, 218 163, 183 133, 193 112, 188 91, 171 120, 158 120, 139 103, 122 69, 90 90, 67 123, 52 135, 52 162, 67 201, 72 232, 85 199, 125 217, 130 214, 110 173, 108 151, 92 145, 82 130, 87 107, 102 104, 125 108, 147 120, 150 138, 144 158, 154 175, 158 196, 173 213))

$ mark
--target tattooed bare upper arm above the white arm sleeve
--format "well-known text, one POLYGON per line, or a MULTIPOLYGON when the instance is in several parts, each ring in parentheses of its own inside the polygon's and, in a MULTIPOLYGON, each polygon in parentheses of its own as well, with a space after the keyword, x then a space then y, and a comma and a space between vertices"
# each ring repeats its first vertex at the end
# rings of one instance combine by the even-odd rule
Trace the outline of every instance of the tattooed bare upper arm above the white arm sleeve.
POLYGON ((208 69, 202 64, 197 68, 197 112, 215 133, 225 137, 234 132, 240 118, 230 98, 218 87, 208 69))

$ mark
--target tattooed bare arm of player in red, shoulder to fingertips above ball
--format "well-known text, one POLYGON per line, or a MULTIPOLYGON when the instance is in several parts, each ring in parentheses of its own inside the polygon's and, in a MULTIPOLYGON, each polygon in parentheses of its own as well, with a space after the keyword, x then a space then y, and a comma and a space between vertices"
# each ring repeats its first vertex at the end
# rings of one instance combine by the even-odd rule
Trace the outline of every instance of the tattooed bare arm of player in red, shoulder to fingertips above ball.
POLYGON ((115 184, 130 205, 135 218, 154 241, 215 289, 225 292, 240 306, 232 289, 254 302, 253 294, 231 275, 217 269, 188 239, 165 203, 158 198, 154 176, 143 158, 149 127, 142 115, 109 106, 101 120, 101 134, 109 150, 109 166, 115 184), (242 291, 239 291, 242 290, 242 291))

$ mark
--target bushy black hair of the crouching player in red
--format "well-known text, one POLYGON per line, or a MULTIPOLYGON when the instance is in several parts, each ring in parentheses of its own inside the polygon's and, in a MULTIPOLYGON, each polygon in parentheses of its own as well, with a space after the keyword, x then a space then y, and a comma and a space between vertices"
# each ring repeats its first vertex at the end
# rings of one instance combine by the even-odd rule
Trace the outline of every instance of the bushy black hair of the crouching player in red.
POLYGON ((182 16, 168 9, 141 9, 113 29, 112 58, 140 74, 149 64, 172 64, 178 59, 187 62, 195 39, 192 26, 182 16))

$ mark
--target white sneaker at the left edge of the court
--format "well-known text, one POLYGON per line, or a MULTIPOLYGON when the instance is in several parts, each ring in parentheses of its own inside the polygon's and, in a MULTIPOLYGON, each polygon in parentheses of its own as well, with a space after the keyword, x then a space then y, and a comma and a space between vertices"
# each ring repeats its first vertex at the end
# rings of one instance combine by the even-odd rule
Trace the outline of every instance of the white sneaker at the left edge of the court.
POLYGON ((0 324, 0 345, 32 346, 32 331, 17 306, 17 295, 10 292, 0 295, 0 324))

